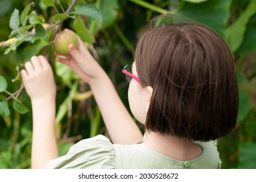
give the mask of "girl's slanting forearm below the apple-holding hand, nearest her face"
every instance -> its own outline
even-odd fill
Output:
[[[142,140],[140,129],[123,105],[108,75],[101,73],[101,78],[92,81],[90,86],[112,142],[134,144]]]

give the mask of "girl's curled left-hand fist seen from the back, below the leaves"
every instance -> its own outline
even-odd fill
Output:
[[[45,57],[34,56],[21,71],[22,81],[31,101],[55,99],[56,84],[52,68]]]

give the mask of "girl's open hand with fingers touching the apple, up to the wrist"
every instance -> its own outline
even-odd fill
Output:
[[[86,49],[84,42],[79,37],[78,42],[78,49],[76,49],[72,44],[69,45],[69,55],[61,55],[56,52],[56,55],[65,57],[65,59],[57,57],[56,61],[66,64],[86,83],[90,83],[92,79],[97,77],[97,74],[102,70],[102,68],[91,56],[89,51]]]

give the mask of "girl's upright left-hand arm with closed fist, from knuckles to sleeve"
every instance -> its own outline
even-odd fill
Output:
[[[21,71],[22,81],[31,98],[33,110],[33,141],[31,168],[44,168],[59,157],[55,135],[56,85],[48,61],[32,57]]]

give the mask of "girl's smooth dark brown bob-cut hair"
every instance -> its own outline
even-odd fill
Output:
[[[204,142],[225,136],[238,114],[232,52],[212,29],[171,19],[153,19],[136,45],[140,84],[153,88],[146,130]]]

